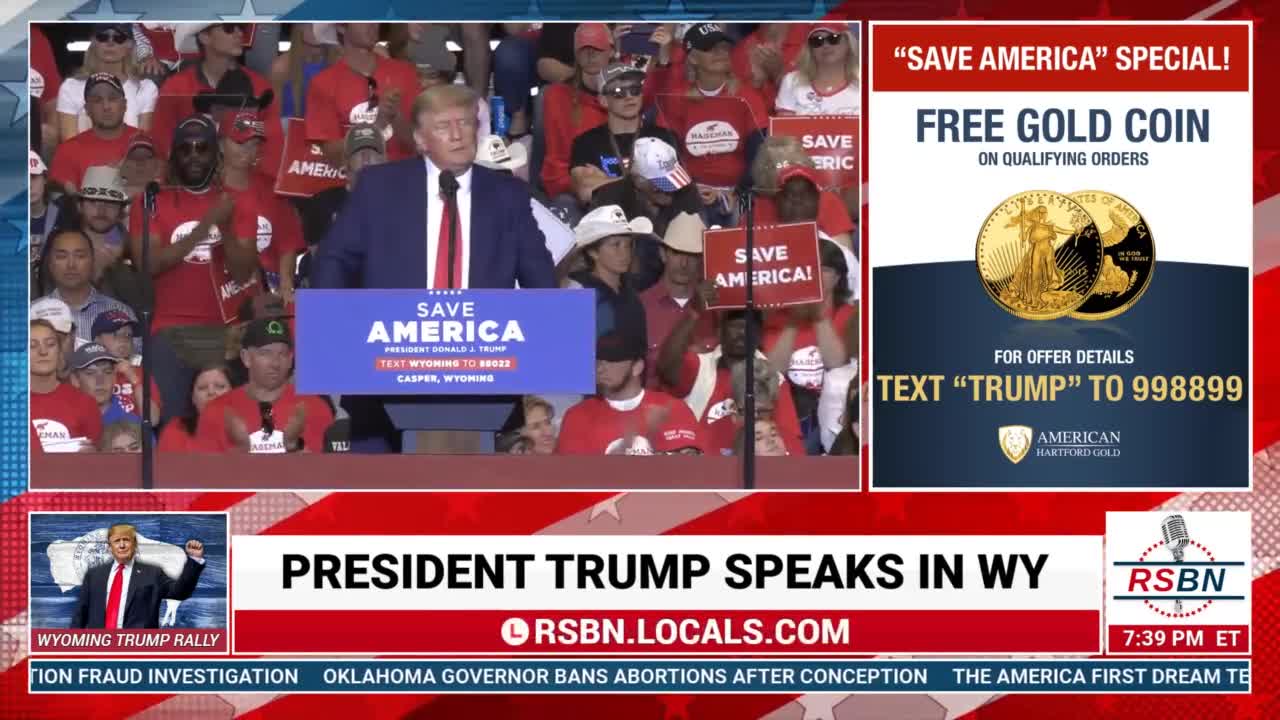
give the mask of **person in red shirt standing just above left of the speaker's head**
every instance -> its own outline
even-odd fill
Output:
[[[378,23],[338,26],[342,58],[317,73],[307,88],[307,141],[319,142],[325,159],[335,168],[347,165],[343,156],[347,127],[372,123],[387,140],[387,159],[412,158],[413,99],[417,68],[374,53]]]

